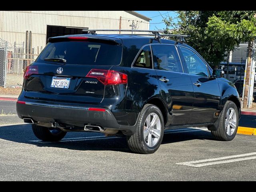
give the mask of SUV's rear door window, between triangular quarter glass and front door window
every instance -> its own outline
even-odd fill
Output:
[[[165,71],[183,72],[180,58],[173,45],[152,45],[154,68]]]

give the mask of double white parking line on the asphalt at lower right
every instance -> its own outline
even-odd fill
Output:
[[[245,154],[240,154],[240,155],[225,156],[225,157],[219,157],[219,158],[188,161],[188,162],[182,162],[182,163],[176,163],[176,164],[187,165],[187,166],[192,166],[192,167],[202,167],[202,166],[209,166],[209,165],[214,165],[214,164],[222,164],[222,163],[230,163],[230,162],[256,159],[256,156],[252,156],[252,155],[256,155],[256,152],[245,153]],[[251,156],[251,157],[238,158],[238,157],[244,157],[244,156]],[[229,160],[224,160],[224,159],[229,159]],[[223,161],[218,161],[218,160],[223,160]],[[212,162],[210,162],[210,161],[212,161]],[[205,162],[208,162],[208,163],[205,163]]]

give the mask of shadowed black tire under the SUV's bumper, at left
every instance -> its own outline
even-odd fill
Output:
[[[48,128],[34,124],[32,125],[32,130],[35,136],[43,141],[59,141],[67,134],[67,132],[58,128]]]

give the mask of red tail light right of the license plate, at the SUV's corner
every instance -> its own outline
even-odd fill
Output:
[[[92,69],[86,77],[96,78],[104,85],[126,84],[127,75],[113,70]]]

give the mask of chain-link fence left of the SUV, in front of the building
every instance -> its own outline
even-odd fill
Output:
[[[26,50],[24,43],[10,44],[0,39],[0,86],[22,87],[24,70],[37,58],[35,49]]]

